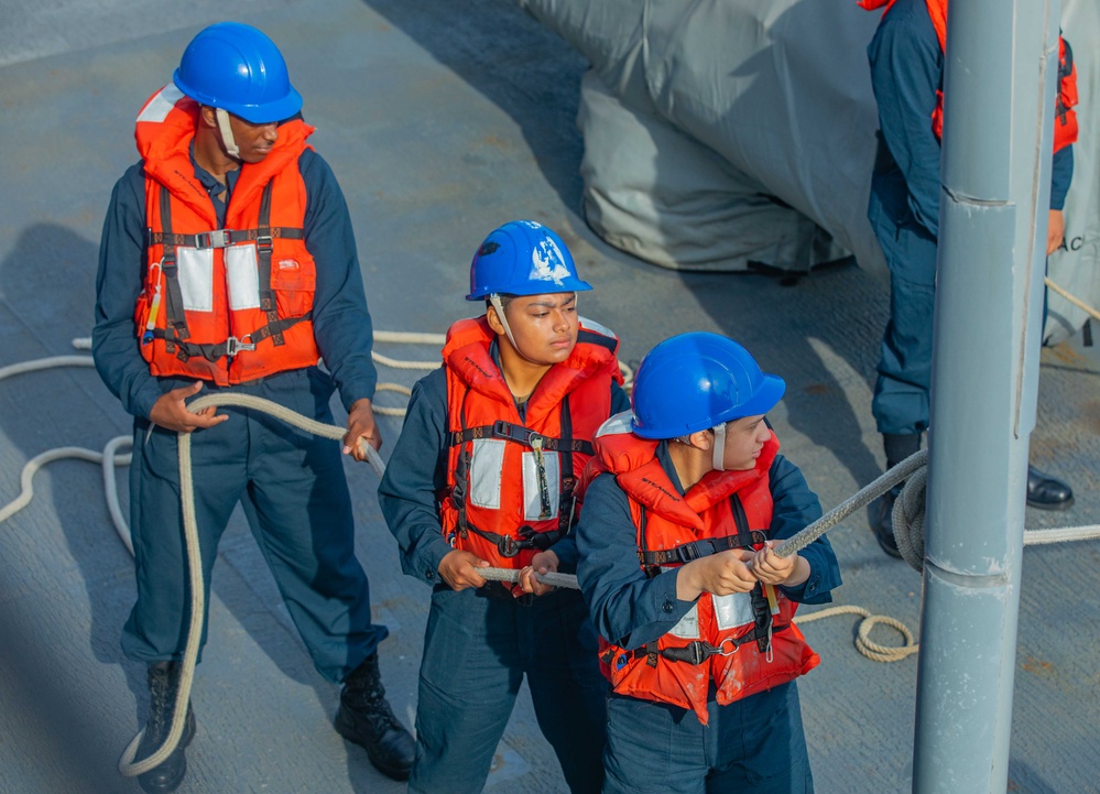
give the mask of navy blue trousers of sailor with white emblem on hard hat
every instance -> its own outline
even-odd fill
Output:
[[[424,637],[409,791],[481,791],[525,673],[538,727],[569,788],[599,792],[607,681],[597,654],[596,629],[577,590],[554,590],[524,606],[483,588],[437,586]]]

